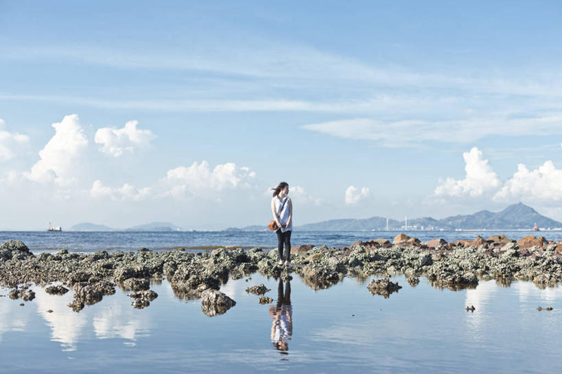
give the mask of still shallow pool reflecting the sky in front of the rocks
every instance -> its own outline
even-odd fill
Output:
[[[480,281],[451,291],[399,276],[401,290],[384,299],[366,289],[371,279],[314,291],[296,274],[286,283],[255,273],[222,285],[237,304],[213,317],[167,281],[151,284],[159,297],[145,309],[117,288],[79,313],[67,306],[73,292],[32,285],[36,299],[25,302],[0,288],[0,372],[562,372],[562,287]],[[272,303],[246,293],[260,283]]]

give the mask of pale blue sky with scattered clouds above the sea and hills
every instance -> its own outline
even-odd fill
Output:
[[[562,220],[558,1],[2,1],[0,230]]]

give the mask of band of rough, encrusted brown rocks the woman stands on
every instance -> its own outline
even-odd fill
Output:
[[[89,255],[62,249],[34,255],[23,242],[10,241],[0,245],[0,285],[12,288],[12,299],[27,301],[34,297],[32,285],[49,286],[46,291],[54,295],[71,289],[74,301],[69,307],[79,312],[114,294],[115,287],[131,292],[133,307],[147,307],[158,296],[150,290],[151,282],[167,279],[176,296],[202,298],[202,311],[215,316],[235,305],[220,292],[220,285],[256,271],[283,279],[294,272],[315,290],[329,288],[344,277],[375,276],[377,280],[368,290],[385,297],[401,288],[388,280],[395,274],[405,275],[412,286],[419,283],[419,277],[425,277],[434,287],[452,290],[474,288],[479,280],[489,279],[502,285],[513,280],[532,281],[539,288],[562,281],[562,242],[532,235],[518,242],[504,235],[420,242],[400,234],[393,242],[374,239],[344,248],[303,245],[292,248],[294,268],[278,266],[277,257],[277,249],[261,248],[218,248],[197,253],[183,249],[156,253],[141,248],[137,252],[101,250]],[[248,292],[263,295],[264,288],[248,288]]]

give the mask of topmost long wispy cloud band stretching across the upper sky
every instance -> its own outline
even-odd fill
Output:
[[[434,71],[411,71],[396,65],[340,56],[307,45],[257,41],[252,47],[236,45],[217,49],[169,51],[151,48],[149,53],[113,49],[97,45],[50,45],[12,47],[3,54],[5,60],[43,60],[75,65],[97,65],[116,69],[187,71],[223,78],[247,77],[259,80],[283,80],[299,86],[303,82],[347,82],[352,86],[412,88],[422,90],[454,89],[468,93],[501,93],[523,96],[560,96],[562,78],[553,71],[530,77],[498,76],[497,71],[480,76],[447,75]],[[298,80],[298,81],[297,81]]]

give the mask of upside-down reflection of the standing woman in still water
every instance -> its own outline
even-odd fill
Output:
[[[283,280],[279,278],[279,288],[277,288],[277,306],[270,306],[269,313],[272,315],[271,341],[273,347],[281,353],[287,355],[289,350],[289,340],[293,334],[293,309],[291,307],[291,283],[285,284],[283,293]]]

